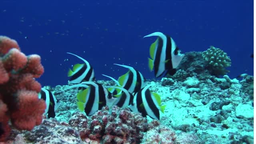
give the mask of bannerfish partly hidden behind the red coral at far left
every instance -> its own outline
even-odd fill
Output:
[[[41,91],[38,94],[38,98],[43,99],[46,103],[46,109],[44,111],[44,114],[46,115],[46,117],[54,118],[55,111],[57,110],[60,104],[58,99],[54,96],[54,94],[50,90],[46,88],[41,88]]]

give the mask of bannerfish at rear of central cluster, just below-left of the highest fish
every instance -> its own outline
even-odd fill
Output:
[[[116,84],[126,90],[130,93],[136,93],[140,89],[144,88],[146,85],[146,79],[142,76],[142,74],[138,71],[132,68],[131,66],[121,65],[121,64],[115,64],[118,66],[122,66],[124,68],[128,68],[128,72],[118,78],[118,80],[115,80],[114,78],[110,76],[106,76],[103,74],[103,76],[106,76],[108,78],[111,78]]]

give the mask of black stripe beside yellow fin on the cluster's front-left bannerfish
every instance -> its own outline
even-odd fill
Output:
[[[90,112],[92,110],[92,106],[95,102],[96,90],[95,90],[95,87],[92,86],[91,84],[88,84],[88,86],[90,86],[90,94],[89,94],[88,101],[86,102],[84,112],[86,113],[87,116],[90,116],[89,114],[90,114]]]

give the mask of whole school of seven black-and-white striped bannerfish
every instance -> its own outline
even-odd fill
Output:
[[[150,36],[158,37],[150,46],[150,58],[148,58],[150,70],[152,71],[154,68],[156,78],[166,76],[166,74],[175,74],[176,67],[184,54],[181,54],[170,36],[161,32],[154,32],[144,36],[144,38]],[[102,74],[116,83],[116,86],[103,86],[95,81],[94,70],[90,63],[76,54],[72,55],[83,60],[84,63],[75,64],[72,70],[69,69],[69,83],[73,85],[59,92],[79,88],[76,104],[81,112],[84,111],[87,116],[92,116],[103,106],[108,106],[110,109],[112,106],[118,106],[129,108],[132,112],[140,112],[143,117],[149,116],[155,120],[160,119],[159,111],[164,112],[166,105],[161,105],[160,96],[149,90],[150,85],[146,85],[146,79],[138,70],[131,66],[114,64],[128,68],[128,72],[120,76],[118,80]],[[47,107],[44,114],[47,118],[54,118],[55,111],[59,106],[54,94],[50,90],[42,88],[38,96],[46,101]]]

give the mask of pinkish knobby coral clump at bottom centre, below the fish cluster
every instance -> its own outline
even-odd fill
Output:
[[[104,144],[139,143],[148,126],[146,118],[140,114],[117,106],[113,106],[111,114],[108,107],[104,107],[90,120],[82,113],[74,113],[69,124],[80,132],[83,140]]]

